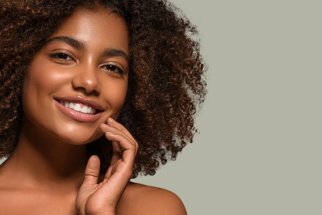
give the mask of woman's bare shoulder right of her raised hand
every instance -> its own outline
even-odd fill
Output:
[[[117,214],[186,215],[181,199],[173,192],[130,183],[118,204]]]

